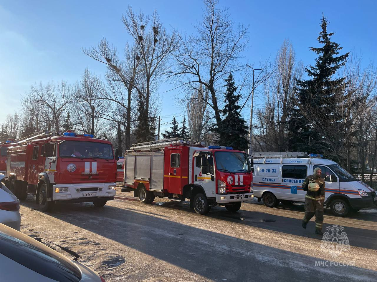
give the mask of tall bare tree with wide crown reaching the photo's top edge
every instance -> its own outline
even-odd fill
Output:
[[[219,8],[218,0],[204,0],[204,15],[194,27],[195,35],[179,36],[180,48],[175,53],[175,64],[167,73],[178,87],[191,97],[192,89],[198,83],[208,89],[210,97],[203,100],[210,106],[220,126],[221,109],[218,98],[219,88],[230,72],[245,68],[239,59],[248,43],[248,27],[242,24],[234,27],[225,8]]]

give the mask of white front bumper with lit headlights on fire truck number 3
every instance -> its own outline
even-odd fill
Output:
[[[52,200],[78,200],[80,202],[92,202],[93,199],[103,197],[114,198],[115,190],[109,190],[109,186],[115,186],[116,183],[75,183],[75,184],[56,184],[52,186]],[[56,188],[68,188],[67,192],[56,193]],[[95,193],[95,194],[93,194]],[[87,200],[86,200],[87,199]],[[108,199],[110,200],[110,199]],[[112,199],[111,199],[112,200]]]

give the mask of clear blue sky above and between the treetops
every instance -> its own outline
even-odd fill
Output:
[[[33,83],[52,79],[74,83],[86,67],[103,74],[104,65],[86,57],[81,47],[106,37],[122,50],[130,40],[121,23],[128,5],[146,14],[156,8],[166,27],[187,32],[192,32],[192,24],[202,16],[199,0],[0,1],[0,123],[19,110],[21,95]],[[333,40],[344,52],[355,50],[364,64],[377,56],[375,1],[221,0],[220,5],[229,8],[236,23],[250,25],[250,48],[245,53],[249,62],[273,58],[288,38],[297,59],[304,65],[313,64],[315,56],[309,47],[317,46],[322,12],[330,22],[328,30],[336,32]],[[164,83],[159,89],[163,121],[182,112],[175,105],[176,90],[166,92],[172,88]]]

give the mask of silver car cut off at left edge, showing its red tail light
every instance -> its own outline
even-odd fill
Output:
[[[0,173],[0,223],[20,231],[20,201],[1,182],[3,178],[4,174]]]

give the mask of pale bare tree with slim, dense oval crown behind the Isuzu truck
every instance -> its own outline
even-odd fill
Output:
[[[207,104],[204,100],[208,99],[208,92],[204,91],[203,86],[199,85],[187,102],[187,115],[189,121],[190,136],[193,140],[203,141],[205,130],[208,129],[209,115]]]

